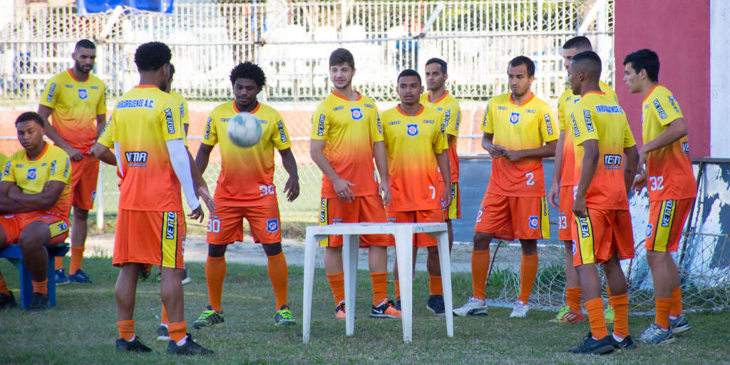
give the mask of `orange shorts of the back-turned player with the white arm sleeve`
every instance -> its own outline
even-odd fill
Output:
[[[120,209],[112,264],[153,264],[183,269],[185,214]]]

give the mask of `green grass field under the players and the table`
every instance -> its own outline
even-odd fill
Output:
[[[68,261],[68,258],[66,258]],[[68,265],[68,262],[65,263]],[[58,306],[42,313],[18,309],[0,312],[0,364],[721,364],[730,363],[727,312],[690,314],[693,329],[669,345],[640,346],[609,356],[576,356],[568,347],[588,331],[588,323],[554,325],[554,314],[533,310],[528,318],[507,318],[509,310],[489,309],[486,318],[455,318],[454,337],[446,337],[445,321],[426,310],[426,273],[415,280],[413,342],[402,342],[399,320],[368,317],[371,285],[367,272],[358,275],[356,332],[345,337],[345,322],[334,319],[334,307],[323,269],[315,274],[310,343],[301,343],[301,267],[289,271],[289,303],[297,326],[274,327],[274,294],[266,268],[228,264],[223,288],[226,322],[201,330],[193,338],[215,350],[201,358],[172,358],[166,342],[155,341],[160,312],[159,285],[137,286],[137,335],[153,353],[117,354],[114,283],[118,269],[110,258],[87,258],[84,269],[95,283],[58,288]],[[185,320],[190,325],[207,304],[204,264],[189,264],[193,282],[185,285]],[[18,293],[18,272],[0,262],[9,288]],[[156,270],[153,270],[156,272]],[[455,304],[471,291],[467,274],[453,275]],[[389,285],[392,296],[392,285]],[[650,318],[631,318],[637,337]]]

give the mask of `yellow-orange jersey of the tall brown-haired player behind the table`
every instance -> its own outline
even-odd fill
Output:
[[[326,141],[324,155],[339,177],[355,184],[355,196],[377,194],[372,144],[383,140],[375,101],[358,93],[352,101],[332,91],[312,115],[310,139]],[[322,174],[322,198],[337,198],[332,182]]]

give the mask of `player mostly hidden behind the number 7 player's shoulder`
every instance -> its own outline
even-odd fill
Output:
[[[428,93],[420,96],[420,104],[426,107],[435,107],[439,112],[444,113],[446,123],[446,136],[448,139],[447,154],[449,155],[449,165],[451,177],[450,184],[445,186],[451,189],[451,205],[444,210],[444,221],[449,233],[449,251],[454,241],[453,228],[451,228],[451,220],[461,219],[461,191],[458,186],[458,153],[456,144],[458,142],[458,126],[461,123],[461,108],[458,101],[446,91],[445,83],[449,79],[446,61],[441,58],[431,58],[426,61],[426,87]],[[440,179],[440,177],[439,177]],[[437,256],[435,256],[437,258]],[[429,255],[429,259],[431,255]],[[431,265],[439,265],[438,262]],[[439,293],[441,295],[441,293]]]

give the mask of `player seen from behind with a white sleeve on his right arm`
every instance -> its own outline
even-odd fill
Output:
[[[144,264],[161,266],[160,291],[169,312],[167,353],[212,353],[196,344],[183,318],[183,241],[185,216],[180,188],[192,219],[202,220],[198,200],[215,211],[207,186],[194,184],[191,159],[185,148],[179,104],[166,89],[172,54],[161,42],[140,45],[134,54],[139,85],[117,102],[107,129],[112,133],[117,166],[122,176],[113,264],[120,266],[116,299],[120,338],[116,350],[150,352],[134,334],[134,297],[137,277]],[[107,147],[96,145],[95,154]]]

